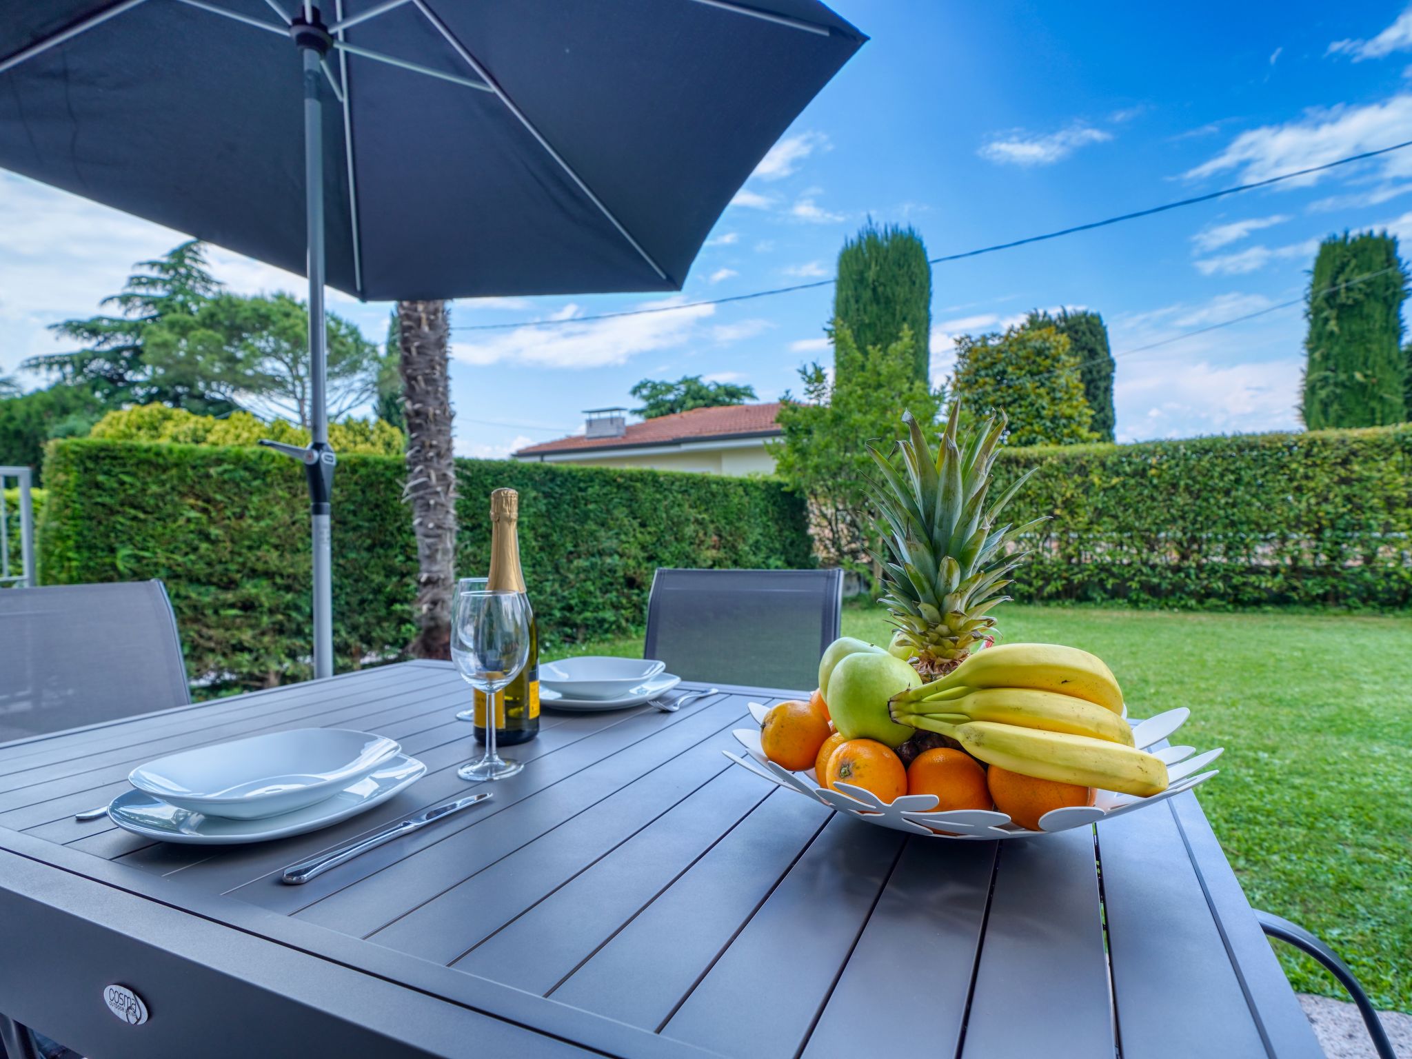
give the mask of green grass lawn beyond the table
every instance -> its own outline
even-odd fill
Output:
[[[1007,641],[1072,644],[1138,714],[1190,706],[1183,740],[1224,746],[1206,808],[1252,905],[1308,926],[1380,1007],[1412,1012],[1412,618],[1187,614],[1005,604]],[[885,616],[843,631],[885,642]],[[641,638],[575,654],[640,655]],[[1343,995],[1279,946],[1305,993]]]

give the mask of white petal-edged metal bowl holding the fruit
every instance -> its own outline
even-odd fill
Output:
[[[750,703],[750,714],[755,724],[765,720],[767,706],[758,702]],[[1147,750],[1161,743],[1176,731],[1192,712],[1185,706],[1155,717],[1148,717],[1132,726],[1132,741],[1139,750]],[[1053,809],[1039,818],[1041,830],[1032,832],[1011,823],[1010,816],[991,809],[956,809],[952,812],[931,812],[935,809],[936,795],[902,795],[891,805],[880,801],[871,791],[851,784],[839,784],[839,791],[822,791],[815,782],[813,771],[791,772],[768,760],[760,748],[760,729],[736,729],[731,733],[746,748],[747,755],[723,751],[726,757],[743,768],[748,768],[758,777],[779,786],[798,791],[806,798],[813,798],[839,812],[850,813],[864,823],[878,827],[891,827],[912,834],[923,834],[931,839],[1029,839],[1041,834],[1055,834],[1070,827],[1087,827],[1090,823],[1137,812],[1148,805],[1166,801],[1183,791],[1190,791],[1199,784],[1204,784],[1216,770],[1203,772],[1200,770],[1211,764],[1221,755],[1221,747],[1207,750],[1202,754],[1195,747],[1163,747],[1151,751],[1166,762],[1166,774],[1171,785],[1159,795],[1138,798],[1137,795],[1117,794],[1114,791],[1099,791],[1093,805],[1070,806]],[[840,791],[843,794],[840,794]],[[938,827],[943,827],[947,834],[939,834]]]

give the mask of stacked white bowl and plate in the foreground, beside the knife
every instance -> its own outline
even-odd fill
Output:
[[[398,743],[367,731],[271,731],[148,761],[107,812],[164,842],[263,842],[371,809],[425,771]]]

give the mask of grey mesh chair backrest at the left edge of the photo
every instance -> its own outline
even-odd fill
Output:
[[[0,743],[189,702],[160,580],[0,589]]]

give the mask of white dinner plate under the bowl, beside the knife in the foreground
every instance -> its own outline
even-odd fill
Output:
[[[398,791],[421,779],[426,765],[407,754],[398,754],[374,772],[350,784],[330,798],[306,805],[294,812],[265,816],[258,820],[232,820],[225,816],[179,809],[144,791],[128,791],[113,799],[107,815],[113,823],[134,834],[161,842],[229,846],[240,842],[268,842],[289,834],[304,834],[328,827],[349,816],[385,802]]]

